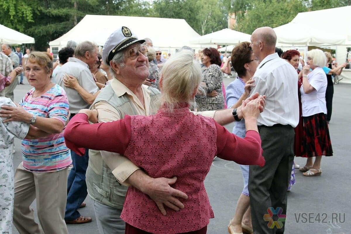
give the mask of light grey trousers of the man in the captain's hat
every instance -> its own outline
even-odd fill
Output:
[[[93,200],[99,234],[124,234],[126,223],[120,218],[122,210]]]

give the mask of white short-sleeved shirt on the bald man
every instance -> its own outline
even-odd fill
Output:
[[[257,125],[275,124],[296,127],[299,122],[297,92],[298,75],[286,60],[277,53],[264,58],[253,75],[255,87],[250,95],[258,92],[266,95],[264,111],[258,116]]]

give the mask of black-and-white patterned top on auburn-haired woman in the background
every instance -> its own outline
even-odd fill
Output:
[[[216,111],[224,108],[224,96],[222,92],[223,72],[216,64],[211,64],[203,72],[202,82],[206,84],[206,93],[213,90],[218,92],[215,97],[196,95],[197,111]]]

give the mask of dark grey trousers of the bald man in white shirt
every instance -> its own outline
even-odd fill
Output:
[[[249,169],[249,193],[252,227],[256,234],[284,233],[283,227],[270,228],[263,219],[267,209],[277,207],[286,214],[287,188],[294,159],[294,129],[290,125],[258,128],[262,140],[263,156],[266,164],[263,167],[251,165]],[[273,215],[273,221],[277,220]]]

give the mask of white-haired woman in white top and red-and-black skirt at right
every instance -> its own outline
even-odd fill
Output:
[[[320,49],[307,52],[307,65],[302,69],[301,103],[304,120],[302,157],[307,157],[306,165],[300,167],[304,176],[322,174],[322,155],[332,156],[329,129],[325,114],[325,91],[327,78],[323,67],[327,60]],[[312,71],[310,71],[312,69]],[[316,157],[314,163],[312,157]]]

